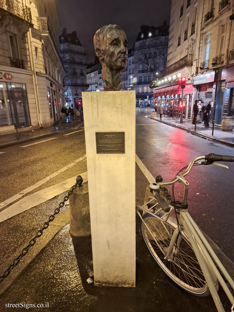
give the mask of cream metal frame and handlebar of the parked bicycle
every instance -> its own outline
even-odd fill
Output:
[[[187,204],[189,183],[188,183],[188,181],[185,180],[184,176],[189,173],[193,164],[197,160],[204,159],[204,158],[205,158],[205,156],[200,156],[200,157],[193,159],[193,161],[188,165],[187,170],[183,174],[178,174],[172,181],[160,182],[160,183],[158,183],[158,185],[159,186],[171,185],[171,184],[176,183],[177,181],[183,183],[183,185],[184,185],[183,204]],[[224,167],[226,167],[226,166],[224,166]],[[155,199],[155,198],[149,197],[149,202],[152,199]],[[147,205],[148,203],[144,204],[144,206]],[[170,207],[171,207],[170,211],[168,213],[166,213],[163,217],[159,217],[159,216],[155,215],[154,213],[149,212],[147,209],[145,209],[141,206],[137,206],[136,208],[138,208],[144,212],[150,213],[153,217],[155,217],[156,219],[161,221],[163,224],[163,222],[168,220],[168,218],[170,217],[171,211],[173,210],[173,207],[172,206],[170,206]],[[137,214],[139,215],[141,220],[144,222],[144,220],[142,219],[138,210],[137,210]],[[170,218],[172,218],[172,217],[170,217]],[[205,239],[204,235],[202,234],[202,232],[198,228],[197,224],[194,222],[192,217],[189,215],[188,208],[187,209],[180,209],[179,224],[182,225],[183,227],[181,227],[181,226],[176,227],[176,229],[172,235],[171,242],[170,242],[170,245],[168,247],[166,256],[169,257],[171,252],[173,252],[173,247],[174,247],[176,240],[178,238],[178,233],[184,232],[184,234],[188,237],[188,240],[189,240],[189,242],[193,248],[193,251],[197,257],[197,261],[199,262],[199,265],[202,269],[202,273],[206,279],[208,288],[210,290],[210,293],[211,293],[212,298],[214,300],[214,303],[216,305],[217,311],[218,312],[225,312],[223,305],[222,305],[222,302],[221,302],[219,295],[217,293],[217,289],[218,289],[217,281],[219,281],[220,285],[222,286],[223,290],[225,291],[228,299],[231,302],[232,309],[233,309],[234,297],[233,297],[231,291],[229,290],[229,288],[227,287],[225,280],[223,279],[223,277],[219,273],[217,267],[222,272],[222,275],[226,278],[227,282],[230,284],[230,286],[232,287],[233,290],[234,290],[234,281],[232,280],[231,276],[227,273],[226,269],[224,268],[224,266],[222,265],[222,263],[220,262],[220,260],[218,259],[218,257],[214,253],[214,251],[212,250],[211,246],[209,245],[209,243]],[[147,226],[147,224],[145,222],[144,222],[144,225],[147,227],[147,229],[151,233],[149,227]],[[164,226],[164,228],[166,229],[165,226]],[[158,247],[162,251],[161,247],[159,246],[158,242],[156,241],[156,239],[154,238],[153,235],[152,235],[152,238],[154,239],[155,243],[158,245]],[[178,245],[179,245],[179,242],[180,241],[178,239],[178,241],[177,241]]]

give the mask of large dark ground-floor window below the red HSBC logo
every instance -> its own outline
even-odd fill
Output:
[[[0,125],[30,126],[26,86],[22,83],[0,83]]]

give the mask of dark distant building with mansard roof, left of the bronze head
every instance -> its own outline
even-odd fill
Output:
[[[65,69],[65,105],[76,107],[82,101],[81,92],[87,91],[86,54],[76,31],[67,33],[63,29],[59,36],[61,61]]]

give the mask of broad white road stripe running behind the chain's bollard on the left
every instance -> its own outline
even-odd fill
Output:
[[[80,173],[80,175],[83,178],[83,183],[88,181],[87,171],[84,173]],[[25,210],[35,207],[42,202],[46,202],[47,200],[68,191],[72,187],[72,185],[76,183],[76,177],[77,175],[61,183],[52,185],[49,188],[44,188],[41,191],[38,191],[20,199],[18,202],[14,203],[13,205],[7,207],[5,210],[0,212],[0,222],[3,222],[4,220],[16,216],[17,214]]]

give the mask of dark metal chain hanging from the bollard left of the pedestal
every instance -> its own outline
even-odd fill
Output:
[[[17,258],[15,258],[12,261],[12,264],[2,273],[2,275],[0,276],[0,283],[2,283],[2,281],[5,280],[5,278],[11,273],[11,271],[14,269],[14,267],[17,266],[17,264],[20,262],[22,257],[27,255],[29,248],[32,247],[36,243],[36,240],[37,240],[38,237],[41,237],[41,235],[43,234],[43,231],[45,229],[47,229],[47,227],[49,226],[50,222],[53,221],[55,216],[60,212],[60,209],[62,207],[64,207],[65,202],[68,201],[69,196],[71,196],[73,191],[77,188],[77,185],[80,186],[82,184],[82,182],[83,182],[82,177],[80,175],[77,176],[76,183],[72,186],[71,190],[69,190],[67,196],[65,196],[63,198],[63,201],[60,202],[59,207],[56,208],[54,213],[49,216],[48,221],[43,224],[42,228],[39,231],[37,231],[37,234],[29,241],[28,245],[22,249],[22,251],[19,254],[19,256],[17,256]]]

